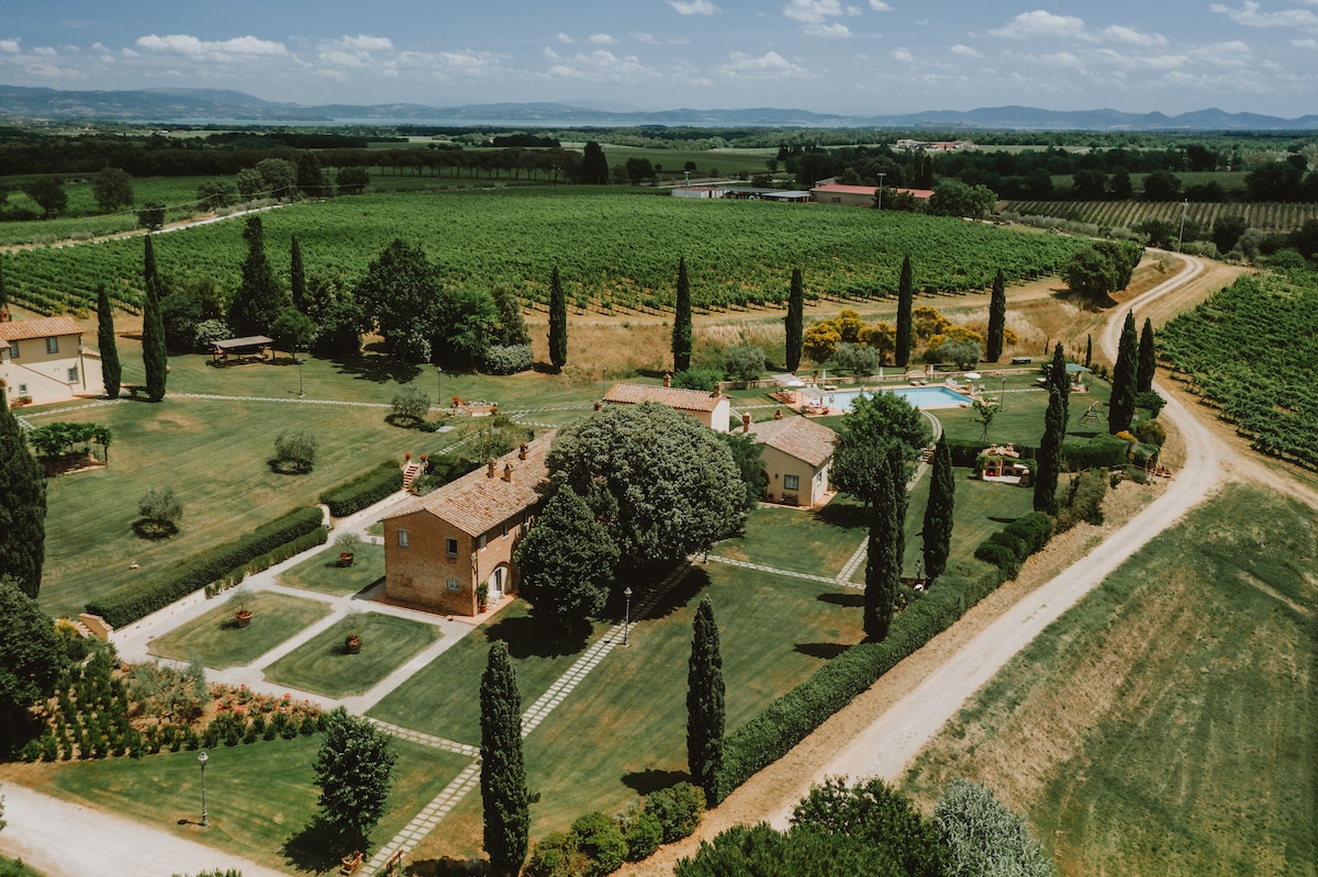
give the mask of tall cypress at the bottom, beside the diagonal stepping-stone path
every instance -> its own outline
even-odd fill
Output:
[[[514,877],[526,861],[531,814],[522,761],[522,698],[502,640],[490,645],[481,677],[481,802],[490,869]]]

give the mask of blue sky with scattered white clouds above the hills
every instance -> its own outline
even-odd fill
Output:
[[[302,105],[1318,113],[1318,0],[5,0],[0,84]]]

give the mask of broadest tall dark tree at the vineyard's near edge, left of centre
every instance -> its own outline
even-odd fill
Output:
[[[407,362],[431,358],[439,323],[440,291],[419,246],[394,238],[357,282],[357,303],[376,323],[385,349]]]

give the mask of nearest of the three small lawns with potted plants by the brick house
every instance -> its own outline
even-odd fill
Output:
[[[331,698],[361,694],[439,636],[431,624],[362,612],[360,654],[343,651],[344,633],[333,627],[265,668],[265,678]]]

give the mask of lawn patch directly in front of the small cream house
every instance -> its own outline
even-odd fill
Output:
[[[718,543],[710,553],[796,573],[837,575],[867,533],[859,503],[838,495],[818,512],[754,508],[745,535]]]

